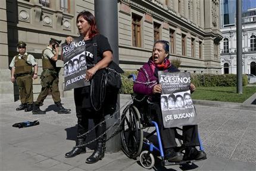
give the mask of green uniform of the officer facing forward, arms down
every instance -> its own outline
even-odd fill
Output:
[[[24,53],[16,55],[10,67],[15,68],[14,77],[18,85],[21,104],[33,104],[32,66],[37,65],[34,56]]]

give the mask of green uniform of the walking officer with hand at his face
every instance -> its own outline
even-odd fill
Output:
[[[36,104],[42,104],[43,100],[48,96],[49,90],[51,90],[52,99],[55,103],[61,101],[60,99],[60,91],[58,88],[59,78],[58,72],[56,68],[56,62],[52,61],[52,56],[55,55],[55,50],[51,47],[47,47],[42,52],[42,65],[43,65],[43,72],[41,74],[41,85],[42,89],[36,100]]]

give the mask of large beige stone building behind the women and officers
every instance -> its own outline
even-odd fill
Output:
[[[41,53],[50,37],[65,40],[78,36],[76,15],[88,10],[94,14],[94,1],[4,0],[1,1],[1,94],[18,98],[10,81],[11,58],[17,54],[18,40],[27,43],[42,66]],[[118,42],[121,68],[139,69],[151,56],[156,40],[170,43],[170,59],[180,60],[182,71],[220,74],[218,0],[120,0],[118,1]],[[63,64],[59,64],[61,66]],[[39,68],[39,73],[42,68]],[[60,67],[60,82],[63,83]],[[35,97],[40,79],[33,83]],[[70,96],[63,91],[62,96]],[[5,96],[6,97],[6,96]],[[3,98],[1,98],[3,99]]]

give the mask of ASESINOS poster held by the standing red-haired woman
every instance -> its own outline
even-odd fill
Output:
[[[90,85],[85,81],[87,69],[85,48],[83,36],[74,39],[70,45],[67,43],[61,45],[64,61],[64,90]]]

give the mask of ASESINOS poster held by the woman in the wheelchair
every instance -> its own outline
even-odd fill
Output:
[[[158,71],[158,75],[162,85],[161,110],[164,128],[195,125],[196,112],[189,90],[190,73]]]

